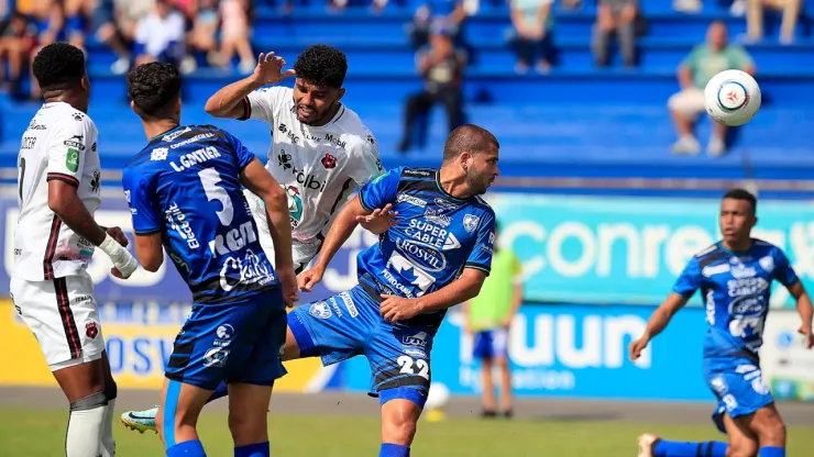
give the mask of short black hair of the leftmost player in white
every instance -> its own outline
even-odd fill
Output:
[[[31,70],[42,90],[68,89],[85,77],[85,53],[68,43],[52,43],[36,53]]]

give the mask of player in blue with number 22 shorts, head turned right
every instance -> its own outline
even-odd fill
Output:
[[[319,356],[326,366],[367,358],[370,394],[382,404],[381,457],[409,456],[436,332],[447,309],[477,296],[490,272],[495,214],[479,196],[498,174],[498,148],[492,133],[466,124],[447,140],[440,169],[399,167],[371,181],[298,277],[300,289],[311,290],[359,221],[381,233],[358,256],[359,286],[288,314],[285,353]]]

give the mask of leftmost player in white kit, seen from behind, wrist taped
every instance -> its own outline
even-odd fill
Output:
[[[11,298],[70,402],[67,457],[113,456],[117,387],[86,268],[96,246],[110,256],[120,278],[138,264],[119,227],[94,221],[100,170],[96,125],[87,115],[85,55],[54,43],[40,51],[32,67],[45,103],[20,145]]]

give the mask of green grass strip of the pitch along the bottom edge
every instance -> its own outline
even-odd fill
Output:
[[[0,409],[0,443],[4,457],[64,455],[67,413],[57,410]],[[119,457],[164,455],[157,435],[139,434],[114,424]],[[319,457],[375,457],[378,454],[376,417],[271,416],[272,455]],[[650,431],[685,441],[723,439],[712,423],[705,425],[635,424],[627,422],[543,422],[503,420],[447,420],[419,424],[413,455],[425,456],[557,456],[634,457],[636,436]],[[199,432],[208,455],[231,456],[226,415],[205,413]],[[811,428],[791,427],[789,455],[811,455]]]

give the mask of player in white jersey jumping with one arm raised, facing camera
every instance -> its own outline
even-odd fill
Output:
[[[254,74],[215,93],[206,110],[217,118],[255,119],[271,125],[266,169],[286,189],[297,274],[317,255],[331,221],[353,193],[384,172],[378,144],[355,112],[341,103],[348,71],[344,54],[314,45],[294,69],[260,55]],[[294,89],[270,87],[295,76]],[[262,200],[249,192],[261,242],[273,249]],[[270,254],[270,258],[274,258]]]

